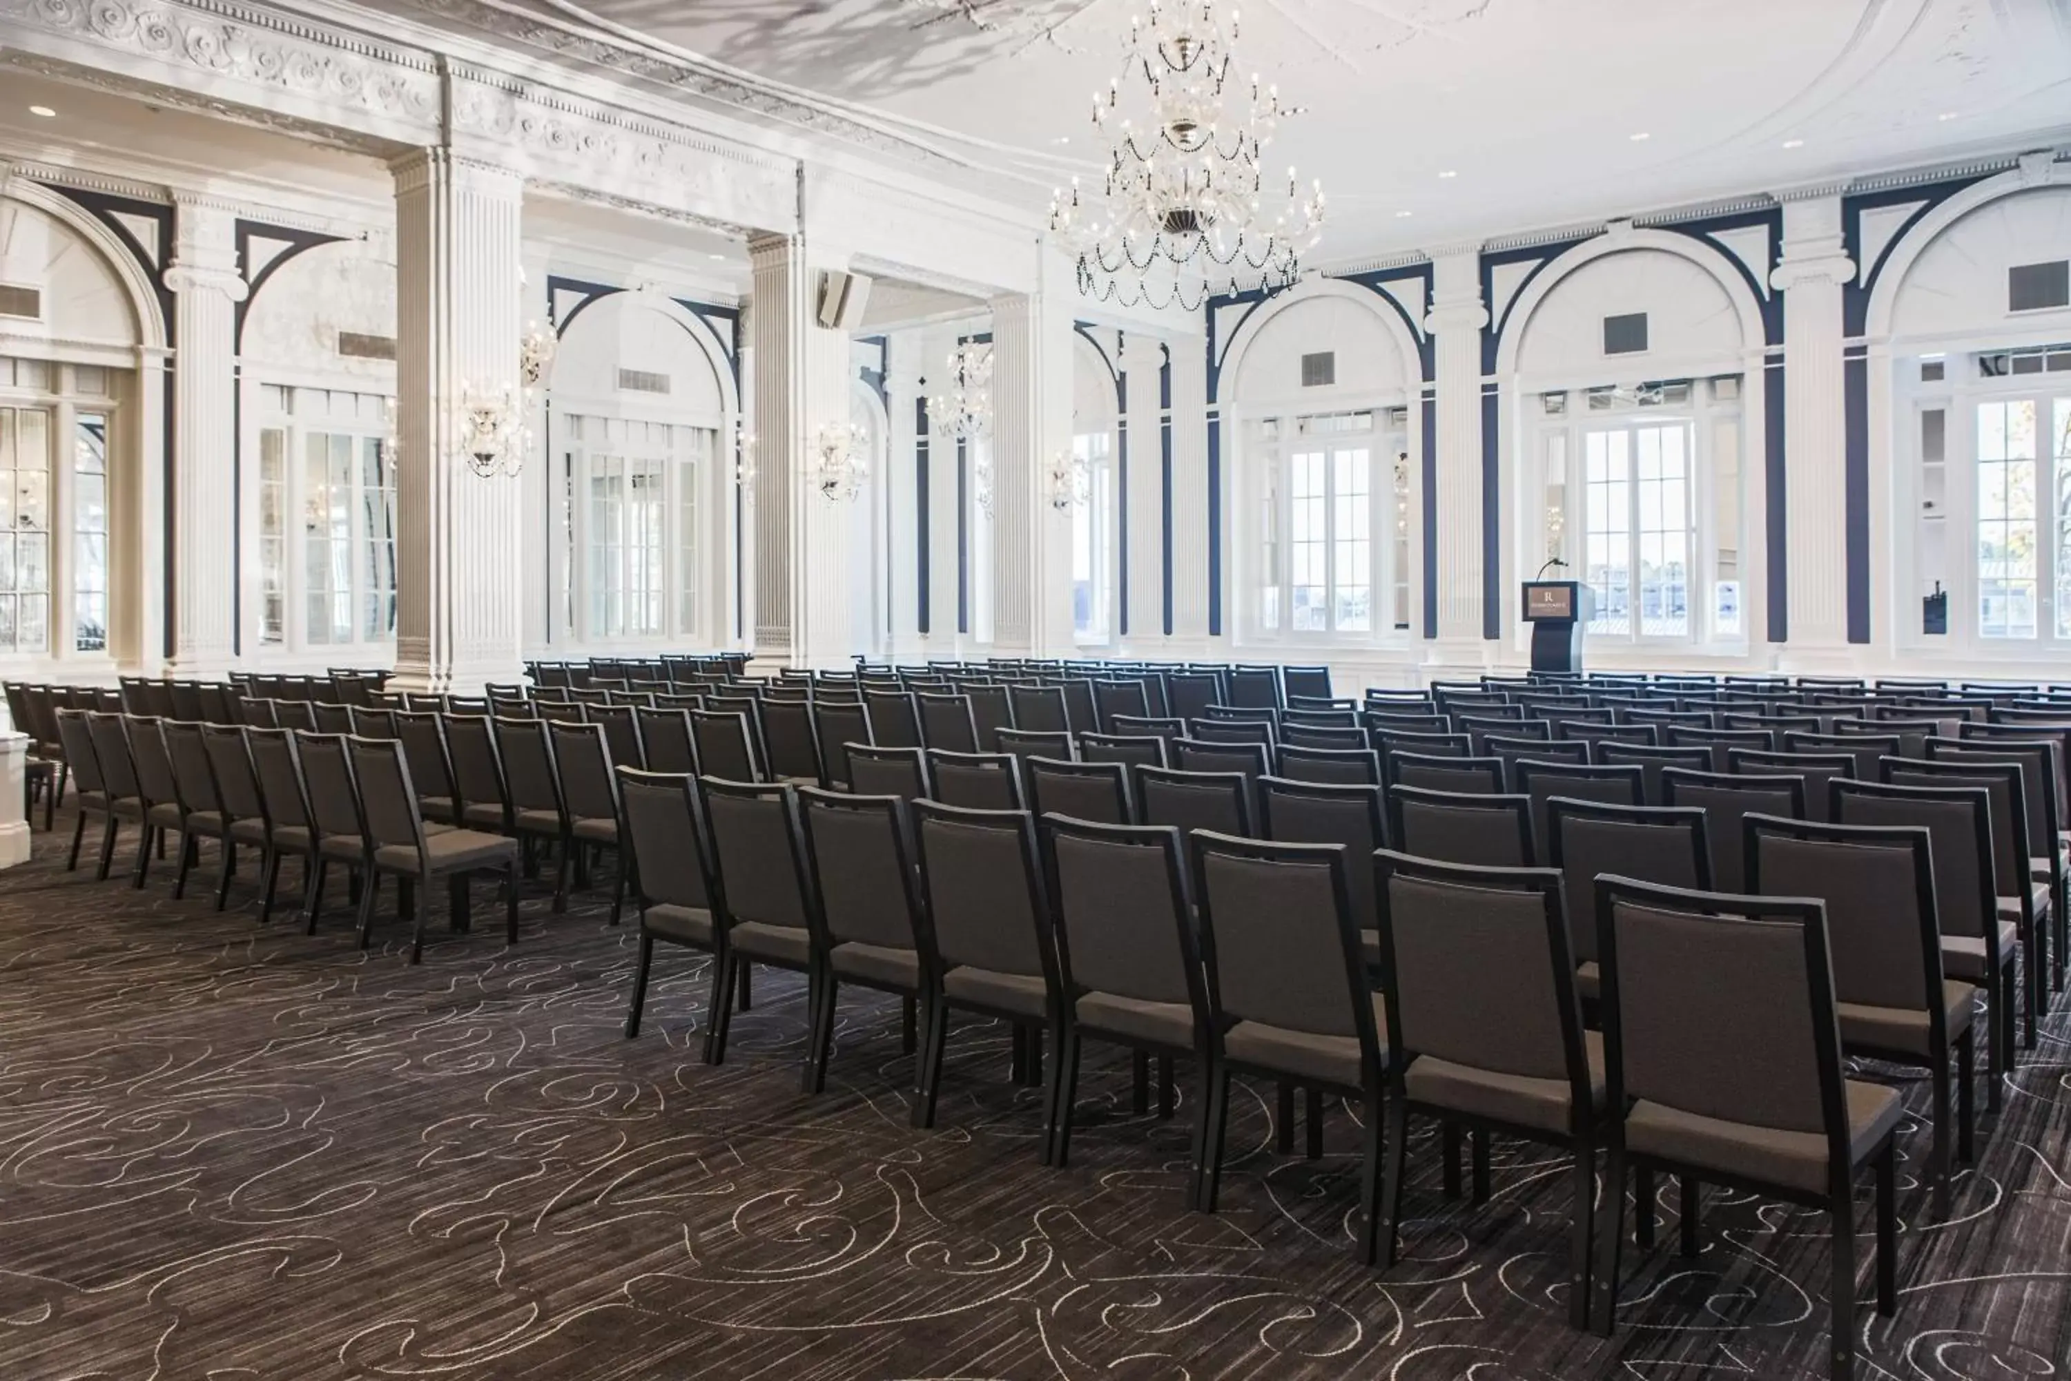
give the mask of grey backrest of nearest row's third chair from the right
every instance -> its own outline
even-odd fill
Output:
[[[1344,845],[1282,845],[1203,830],[1189,839],[1212,1027],[1259,1023],[1354,1037],[1361,1083],[1379,1077]]]

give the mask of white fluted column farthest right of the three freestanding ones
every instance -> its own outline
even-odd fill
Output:
[[[1036,292],[992,300],[992,646],[1007,654],[1073,646],[1071,524],[1050,501],[1071,449],[1071,284],[1044,253]]]

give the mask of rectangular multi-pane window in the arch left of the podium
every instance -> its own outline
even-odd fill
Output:
[[[1408,464],[1394,439],[1375,435],[1377,422],[1371,410],[1257,422],[1251,631],[1330,638],[1408,627]]]

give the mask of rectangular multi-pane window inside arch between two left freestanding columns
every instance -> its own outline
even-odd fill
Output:
[[[717,453],[710,427],[570,416],[567,605],[580,638],[698,631],[698,484]]]

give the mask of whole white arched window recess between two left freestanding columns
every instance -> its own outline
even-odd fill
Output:
[[[679,304],[623,292],[561,335],[549,393],[557,640],[723,638],[710,586],[729,410],[700,331]]]

